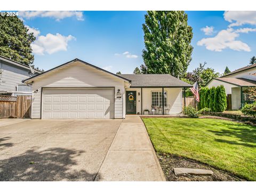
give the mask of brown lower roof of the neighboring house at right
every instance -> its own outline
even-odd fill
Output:
[[[235,77],[219,77],[213,78],[222,82],[230,83],[236,86],[256,86],[256,81],[246,78],[235,78]]]

